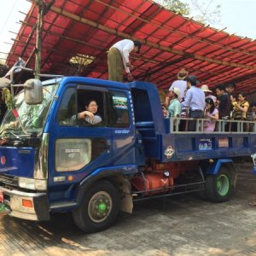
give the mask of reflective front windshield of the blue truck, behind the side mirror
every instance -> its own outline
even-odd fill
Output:
[[[24,101],[24,90],[15,96],[15,109],[9,109],[3,118],[0,137],[19,137],[23,135],[41,134],[49,106],[55,97],[59,84],[44,86],[43,102],[27,105]]]

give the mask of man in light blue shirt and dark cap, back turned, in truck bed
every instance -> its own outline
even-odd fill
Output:
[[[182,107],[189,107],[189,118],[203,118],[206,102],[204,92],[196,87],[200,83],[194,75],[189,75],[185,80],[189,90],[187,90],[185,99],[182,102]],[[196,122],[189,121],[188,130],[195,131],[195,129]]]

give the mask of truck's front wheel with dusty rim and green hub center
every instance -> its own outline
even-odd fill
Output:
[[[119,213],[120,199],[117,189],[108,181],[100,181],[84,192],[73,220],[80,230],[93,233],[107,229]]]

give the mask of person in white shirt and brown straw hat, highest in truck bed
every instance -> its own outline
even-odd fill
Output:
[[[187,90],[187,82],[184,81],[184,79],[186,79],[187,75],[188,75],[188,71],[185,68],[182,68],[177,73],[177,80],[175,80],[169,88],[169,90],[172,90],[174,87],[176,87],[180,90],[180,94],[178,96],[178,100],[180,102],[183,101],[185,91]],[[166,107],[168,107],[169,102],[170,102],[170,99],[168,98],[168,96],[166,96]]]

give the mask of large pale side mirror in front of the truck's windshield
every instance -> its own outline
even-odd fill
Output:
[[[43,102],[43,84],[38,79],[29,79],[24,84],[24,99],[27,105]]]

